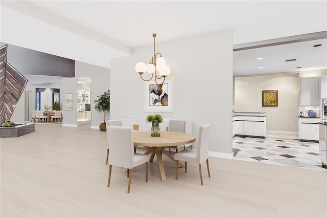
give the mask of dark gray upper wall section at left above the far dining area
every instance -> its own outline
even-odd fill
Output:
[[[0,42],[0,46],[6,45]],[[8,45],[7,61],[22,75],[75,77],[75,60]]]

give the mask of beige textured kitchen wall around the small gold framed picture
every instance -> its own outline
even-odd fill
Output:
[[[299,74],[235,77],[235,112],[266,112],[267,130],[296,132]],[[278,90],[278,106],[263,107],[262,91]]]

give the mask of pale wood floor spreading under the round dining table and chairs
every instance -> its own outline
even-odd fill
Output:
[[[106,132],[61,124],[36,125],[35,133],[2,138],[1,217],[327,217],[327,173],[270,164],[209,158],[188,173],[163,157],[133,169],[113,167],[107,187]]]

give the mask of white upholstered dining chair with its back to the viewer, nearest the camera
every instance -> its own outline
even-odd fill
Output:
[[[132,169],[134,167],[137,167],[145,163],[145,172],[146,172],[145,181],[148,182],[149,156],[143,154],[137,154],[134,152],[133,133],[131,127],[109,125],[107,126],[107,131],[109,133],[109,144],[110,144],[109,176],[108,176],[107,186],[109,187],[110,185],[112,166],[123,167],[128,169],[127,193],[129,193],[131,180],[132,180]]]

